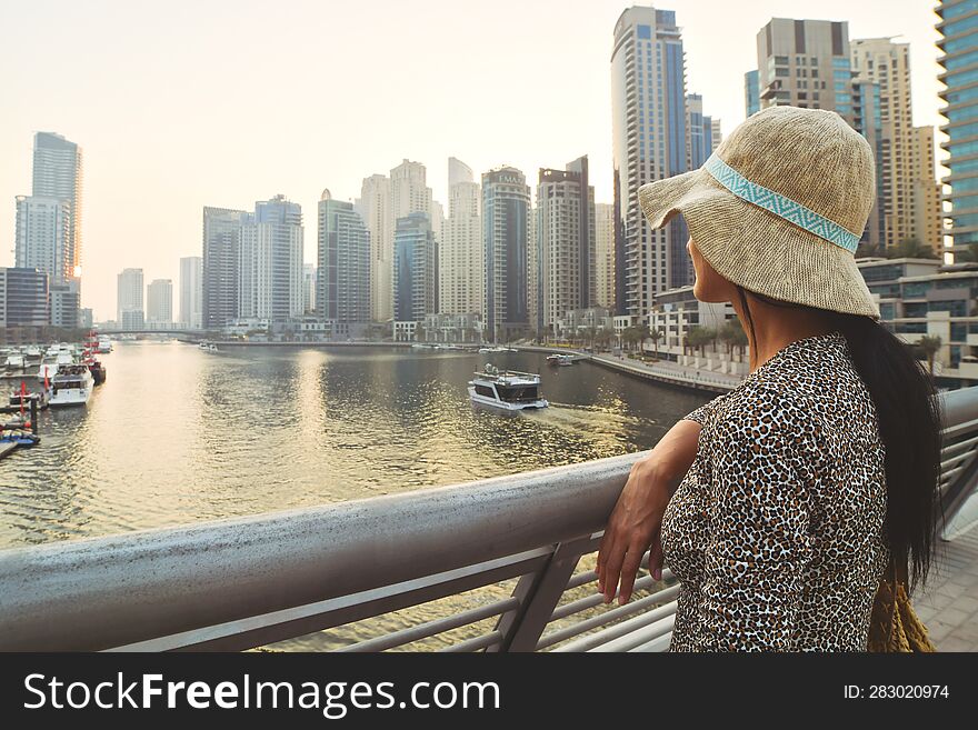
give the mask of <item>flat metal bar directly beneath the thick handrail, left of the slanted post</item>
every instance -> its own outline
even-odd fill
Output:
[[[415,581],[118,647],[114,651],[253,649],[533,572],[546,564],[551,552],[552,548],[538,548]]]

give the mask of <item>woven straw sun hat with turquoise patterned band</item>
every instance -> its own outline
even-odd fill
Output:
[[[725,279],[775,299],[879,320],[856,266],[876,190],[869,143],[834,111],[769,107],[699,169],[638,189],[652,228],[681,213]]]

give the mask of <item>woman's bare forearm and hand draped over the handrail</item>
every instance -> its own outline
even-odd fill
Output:
[[[605,594],[606,603],[615,598],[619,579],[621,590],[618,602],[628,602],[642,554],[650,546],[649,572],[657,580],[661,578],[662,546],[659,533],[662,514],[692,464],[699,431],[700,426],[696,421],[679,421],[651,453],[632,464],[598,549],[598,592]]]

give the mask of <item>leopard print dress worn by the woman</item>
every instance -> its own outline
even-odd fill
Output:
[[[789,343],[686,418],[702,430],[662,519],[669,651],[866,651],[885,451],[846,337]]]

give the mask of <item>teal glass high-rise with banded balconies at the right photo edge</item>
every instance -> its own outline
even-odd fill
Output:
[[[945,89],[939,93],[947,119],[940,130],[947,134],[941,149],[948,152],[942,163],[950,174],[942,179],[950,187],[945,200],[950,202],[948,231],[954,250],[967,250],[978,243],[978,84],[975,62],[978,59],[978,13],[974,0],[944,0],[936,8],[940,20],[937,30],[941,51],[938,59],[945,71],[938,79]]]

